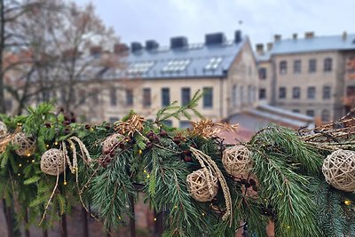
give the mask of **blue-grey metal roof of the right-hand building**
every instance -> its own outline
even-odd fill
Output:
[[[355,34],[347,35],[345,38],[339,35],[281,40],[273,44],[272,54],[345,50],[355,50]]]

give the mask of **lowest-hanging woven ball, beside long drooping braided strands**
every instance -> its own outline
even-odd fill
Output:
[[[206,168],[193,171],[186,182],[190,194],[197,201],[211,201],[218,192],[217,178]]]

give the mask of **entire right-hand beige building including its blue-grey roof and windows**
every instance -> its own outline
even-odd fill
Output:
[[[355,35],[294,35],[275,41],[268,51],[256,45],[259,56],[259,99],[330,122],[344,115],[346,55],[355,51]],[[350,56],[348,56],[350,57]]]

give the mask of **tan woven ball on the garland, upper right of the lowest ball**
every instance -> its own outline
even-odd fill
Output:
[[[248,148],[243,145],[226,148],[222,156],[225,170],[233,177],[248,175],[253,165],[250,155]]]

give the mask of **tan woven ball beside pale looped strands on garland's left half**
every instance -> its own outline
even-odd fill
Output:
[[[41,170],[47,175],[57,176],[67,166],[67,154],[57,148],[51,148],[41,157]]]

